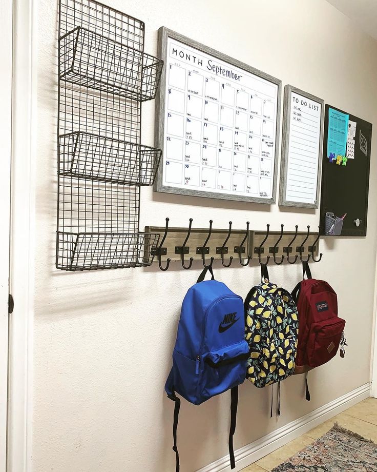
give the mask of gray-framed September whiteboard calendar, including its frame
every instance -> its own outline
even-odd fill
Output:
[[[281,81],[164,27],[155,190],[275,203]]]

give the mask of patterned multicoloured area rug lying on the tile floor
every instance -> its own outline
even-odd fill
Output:
[[[377,472],[377,445],[338,424],[272,472]]]

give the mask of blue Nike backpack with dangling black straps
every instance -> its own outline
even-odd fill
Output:
[[[204,281],[207,270],[212,279]],[[176,392],[194,405],[232,389],[229,457],[235,468],[233,435],[236,429],[238,385],[246,377],[249,347],[245,341],[242,298],[214,280],[211,266],[205,267],[198,282],[186,293],[182,303],[173,367],[165,384],[167,396],[175,402],[173,450],[179,472],[177,426],[180,399]]]

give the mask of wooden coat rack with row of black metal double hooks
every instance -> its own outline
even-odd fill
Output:
[[[161,270],[177,261],[190,269],[195,260],[201,260],[204,266],[221,260],[224,267],[230,267],[235,263],[246,266],[253,258],[260,262],[271,259],[277,265],[322,259],[322,253],[318,257],[320,233],[310,232],[310,226],[306,231],[298,231],[298,226],[295,231],[285,231],[281,225],[280,231],[270,231],[267,224],[266,231],[255,231],[249,229],[249,222],[244,229],[234,229],[231,221],[227,229],[213,229],[212,220],[208,228],[192,228],[192,222],[190,218],[188,228],[169,228],[166,218],[165,227],[145,227],[146,233],[160,235],[160,244],[152,247],[151,253]]]

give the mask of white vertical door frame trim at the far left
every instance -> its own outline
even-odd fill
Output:
[[[7,472],[31,472],[36,0],[13,0]]]

